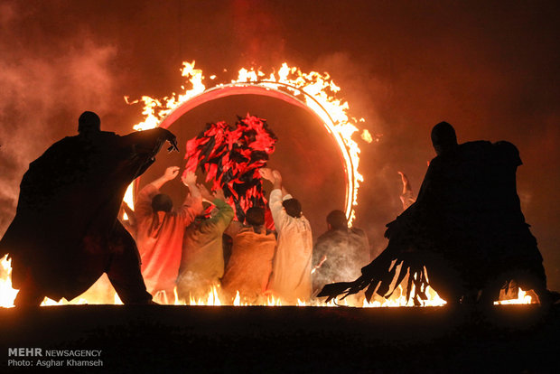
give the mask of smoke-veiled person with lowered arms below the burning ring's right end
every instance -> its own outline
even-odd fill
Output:
[[[361,266],[367,265],[369,260],[369,242],[365,232],[349,228],[344,212],[332,210],[327,215],[327,231],[313,247],[313,295],[331,282],[356,279]]]

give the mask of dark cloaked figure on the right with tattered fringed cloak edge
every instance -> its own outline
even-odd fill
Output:
[[[416,304],[428,284],[448,303],[491,304],[501,287],[516,280],[548,302],[543,258],[520,208],[516,146],[458,145],[446,122],[434,126],[432,141],[437,156],[415,203],[387,225],[385,251],[356,281],[326,285],[320,296],[330,300],[368,288],[368,298],[374,292],[388,297],[397,277],[396,285],[407,279],[407,296]]]

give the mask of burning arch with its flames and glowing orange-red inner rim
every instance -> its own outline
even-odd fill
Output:
[[[205,79],[202,70],[194,69],[193,61],[183,62],[182,76],[186,77],[191,85],[190,89],[182,86],[182,94],[173,93],[171,97],[163,99],[147,96],[141,98],[145,104],[145,120],[136,124],[135,130],[171,126],[192,108],[216,98],[253,94],[284,100],[317,117],[339,146],[346,175],[345,212],[350,223],[354,220],[359,182],[363,182],[363,176],[358,171],[359,146],[352,136],[359,131],[358,124],[364,122],[364,119],[349,117],[349,105],[337,98],[341,89],[332,82],[328,74],[314,71],[303,73],[284,63],[278,71],[268,77],[260,70],[241,69],[238,71],[238,79],[229,83],[217,83],[207,89],[202,83]],[[210,76],[210,79],[214,80],[216,76]],[[363,131],[362,139],[371,142],[367,130]]]

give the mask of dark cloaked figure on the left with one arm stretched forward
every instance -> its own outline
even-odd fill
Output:
[[[126,187],[154,163],[168,140],[163,128],[127,136],[100,131],[84,112],[79,135],[51,145],[29,165],[15,218],[0,241],[12,258],[15,304],[39,305],[44,296],[70,300],[104,272],[125,304],[150,303],[134,239],[117,220]]]

